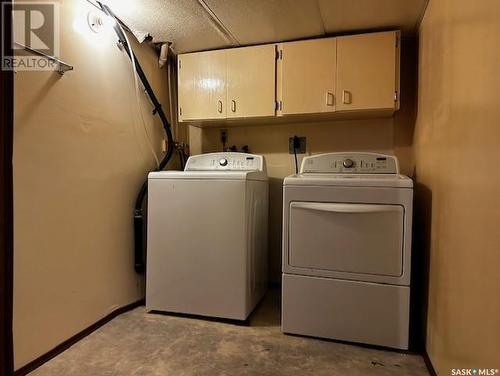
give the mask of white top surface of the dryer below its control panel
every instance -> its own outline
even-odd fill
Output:
[[[413,181],[399,174],[343,175],[343,174],[298,174],[285,178],[285,186],[343,186],[343,187],[393,187],[412,188]]]

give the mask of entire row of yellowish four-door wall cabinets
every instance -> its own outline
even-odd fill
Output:
[[[399,108],[398,31],[182,54],[178,64],[180,121]]]

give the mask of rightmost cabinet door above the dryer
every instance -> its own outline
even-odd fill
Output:
[[[395,108],[397,32],[337,38],[337,110]]]

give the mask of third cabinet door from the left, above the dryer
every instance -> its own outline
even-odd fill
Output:
[[[283,43],[280,48],[280,114],[333,112],[336,38]]]

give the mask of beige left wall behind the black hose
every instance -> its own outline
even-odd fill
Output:
[[[85,1],[61,2],[61,57],[73,72],[15,75],[16,368],[143,296],[132,214],[154,162],[116,37],[73,28],[88,9]],[[166,105],[165,71],[149,46],[137,52]],[[159,148],[161,124],[143,102]]]

